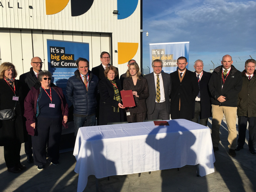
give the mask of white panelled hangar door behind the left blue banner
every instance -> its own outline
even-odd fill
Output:
[[[100,64],[102,51],[111,49],[109,34],[0,29],[0,37],[0,62],[13,63],[18,77],[29,71],[33,54],[44,62],[42,69],[48,69],[47,39],[89,43],[90,69]]]

